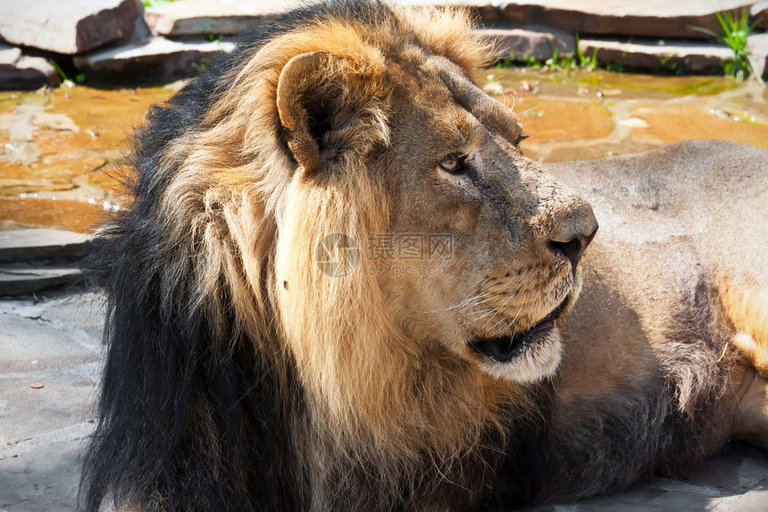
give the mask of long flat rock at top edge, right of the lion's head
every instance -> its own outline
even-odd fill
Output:
[[[692,29],[720,32],[715,13],[749,8],[745,0],[522,0],[505,2],[507,21],[579,33],[641,38],[709,38]]]

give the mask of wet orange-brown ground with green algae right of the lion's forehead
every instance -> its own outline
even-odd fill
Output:
[[[768,89],[755,81],[507,69],[478,78],[521,116],[531,136],[522,147],[544,162],[638,153],[686,138],[768,148]]]

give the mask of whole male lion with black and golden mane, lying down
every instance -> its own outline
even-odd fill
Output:
[[[768,444],[765,154],[558,166],[582,271],[595,216],[488,55],[453,11],[323,4],[152,110],[92,260],[84,508],[505,508]]]

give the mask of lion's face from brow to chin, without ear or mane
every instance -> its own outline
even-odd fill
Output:
[[[511,111],[447,66],[435,74],[400,91],[391,150],[372,166],[391,177],[399,251],[379,250],[391,260],[379,261],[380,282],[420,342],[530,382],[560,360],[557,320],[579,293],[579,258],[597,222],[522,155]]]

